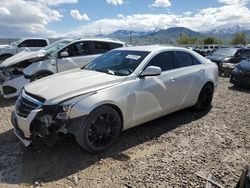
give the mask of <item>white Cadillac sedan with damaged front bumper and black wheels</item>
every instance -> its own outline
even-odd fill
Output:
[[[208,109],[217,81],[217,66],[188,49],[119,48],[25,86],[12,123],[25,146],[71,133],[96,153],[122,130],[191,106]]]

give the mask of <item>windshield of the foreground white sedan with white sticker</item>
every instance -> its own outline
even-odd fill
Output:
[[[117,76],[128,76],[145,59],[149,52],[114,50],[90,62],[84,69]]]

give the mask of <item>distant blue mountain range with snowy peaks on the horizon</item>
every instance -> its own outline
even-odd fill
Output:
[[[213,36],[225,42],[229,42],[237,32],[245,33],[248,42],[250,42],[250,30],[247,30],[239,25],[227,28],[222,27],[207,32],[198,32],[185,27],[171,27],[168,29],[160,29],[154,31],[117,30],[111,34],[105,35],[105,37],[117,38],[128,43],[131,42],[132,39],[133,44],[172,44],[176,43],[176,40],[182,34],[185,34],[189,37],[199,39]]]

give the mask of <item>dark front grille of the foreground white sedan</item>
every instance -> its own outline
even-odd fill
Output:
[[[32,110],[42,106],[42,102],[22,93],[21,98],[17,101],[16,110],[20,117],[27,118]]]

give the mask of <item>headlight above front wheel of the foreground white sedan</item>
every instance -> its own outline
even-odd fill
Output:
[[[63,102],[61,102],[60,105],[60,112],[57,114],[57,119],[69,119],[70,117],[70,111],[71,108],[80,100],[89,97],[91,95],[96,94],[97,92],[90,92],[90,93],[86,93],[80,96],[76,96],[70,99],[67,99]]]

